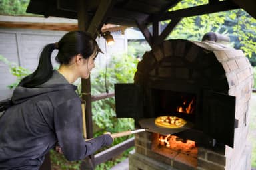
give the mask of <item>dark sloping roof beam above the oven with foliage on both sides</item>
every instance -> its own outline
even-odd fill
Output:
[[[233,9],[239,9],[239,6],[235,5],[231,1],[219,1],[214,5],[209,5],[209,4],[199,5],[197,7],[190,7],[187,9],[179,9],[176,11],[161,13],[159,15],[155,15],[155,19],[157,19],[157,21],[165,21],[168,19],[192,17],[196,15],[203,15],[207,13],[217,13],[220,11],[228,11]]]

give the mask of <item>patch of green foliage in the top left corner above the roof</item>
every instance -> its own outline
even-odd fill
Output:
[[[24,15],[28,4],[29,0],[0,0],[0,14]]]

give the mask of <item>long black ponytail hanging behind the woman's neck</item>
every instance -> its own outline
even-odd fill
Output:
[[[53,65],[51,64],[51,53],[53,50],[57,49],[58,46],[57,43],[47,44],[39,58],[39,64],[37,66],[37,69],[35,72],[30,74],[29,76],[26,76],[19,82],[18,86],[23,86],[27,88],[33,88],[35,86],[38,86],[40,84],[43,84],[51,76],[53,75]]]

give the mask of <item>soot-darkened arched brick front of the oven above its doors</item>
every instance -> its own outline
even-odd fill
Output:
[[[227,93],[229,80],[217,47],[209,49],[203,42],[182,39],[164,41],[145,52],[137,66],[135,83],[160,88],[161,84],[177,84],[178,88],[180,84]]]

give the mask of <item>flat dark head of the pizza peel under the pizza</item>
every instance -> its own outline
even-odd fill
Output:
[[[146,131],[160,133],[161,135],[172,135],[174,133],[179,133],[181,131],[193,128],[193,124],[188,121],[183,127],[180,128],[162,128],[155,124],[155,118],[139,120],[139,125],[141,128],[146,129]]]

